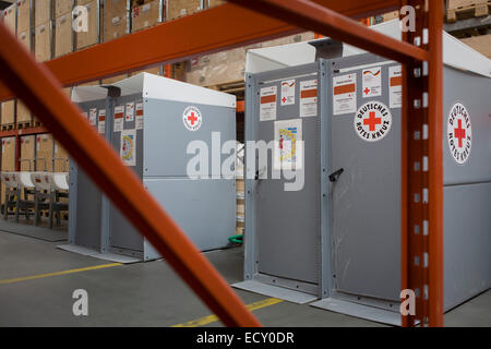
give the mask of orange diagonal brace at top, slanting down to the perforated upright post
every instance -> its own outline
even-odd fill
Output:
[[[357,21],[309,0],[229,0],[244,8],[362,48],[372,53],[408,63],[426,61],[428,51],[367,28]]]

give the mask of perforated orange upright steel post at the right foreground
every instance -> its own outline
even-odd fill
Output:
[[[424,3],[403,1],[417,10],[404,39],[430,55],[427,68],[404,69],[402,288],[415,291],[416,314],[403,326],[443,326],[443,3]]]

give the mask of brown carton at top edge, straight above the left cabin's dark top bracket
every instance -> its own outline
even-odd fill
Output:
[[[104,3],[104,41],[127,35],[127,1],[106,0]]]

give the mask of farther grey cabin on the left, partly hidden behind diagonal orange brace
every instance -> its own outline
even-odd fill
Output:
[[[228,244],[235,180],[216,164],[228,159],[233,173],[236,96],[141,73],[110,86],[74,87],[72,100],[200,250]],[[61,248],[115,261],[159,257],[71,164],[69,244]]]

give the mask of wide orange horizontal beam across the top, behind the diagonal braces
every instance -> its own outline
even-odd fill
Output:
[[[316,1],[357,19],[393,10],[398,4],[397,0]],[[95,45],[45,64],[63,86],[71,86],[300,32],[302,29],[292,23],[226,3]],[[0,101],[12,97],[5,86],[0,86]]]

